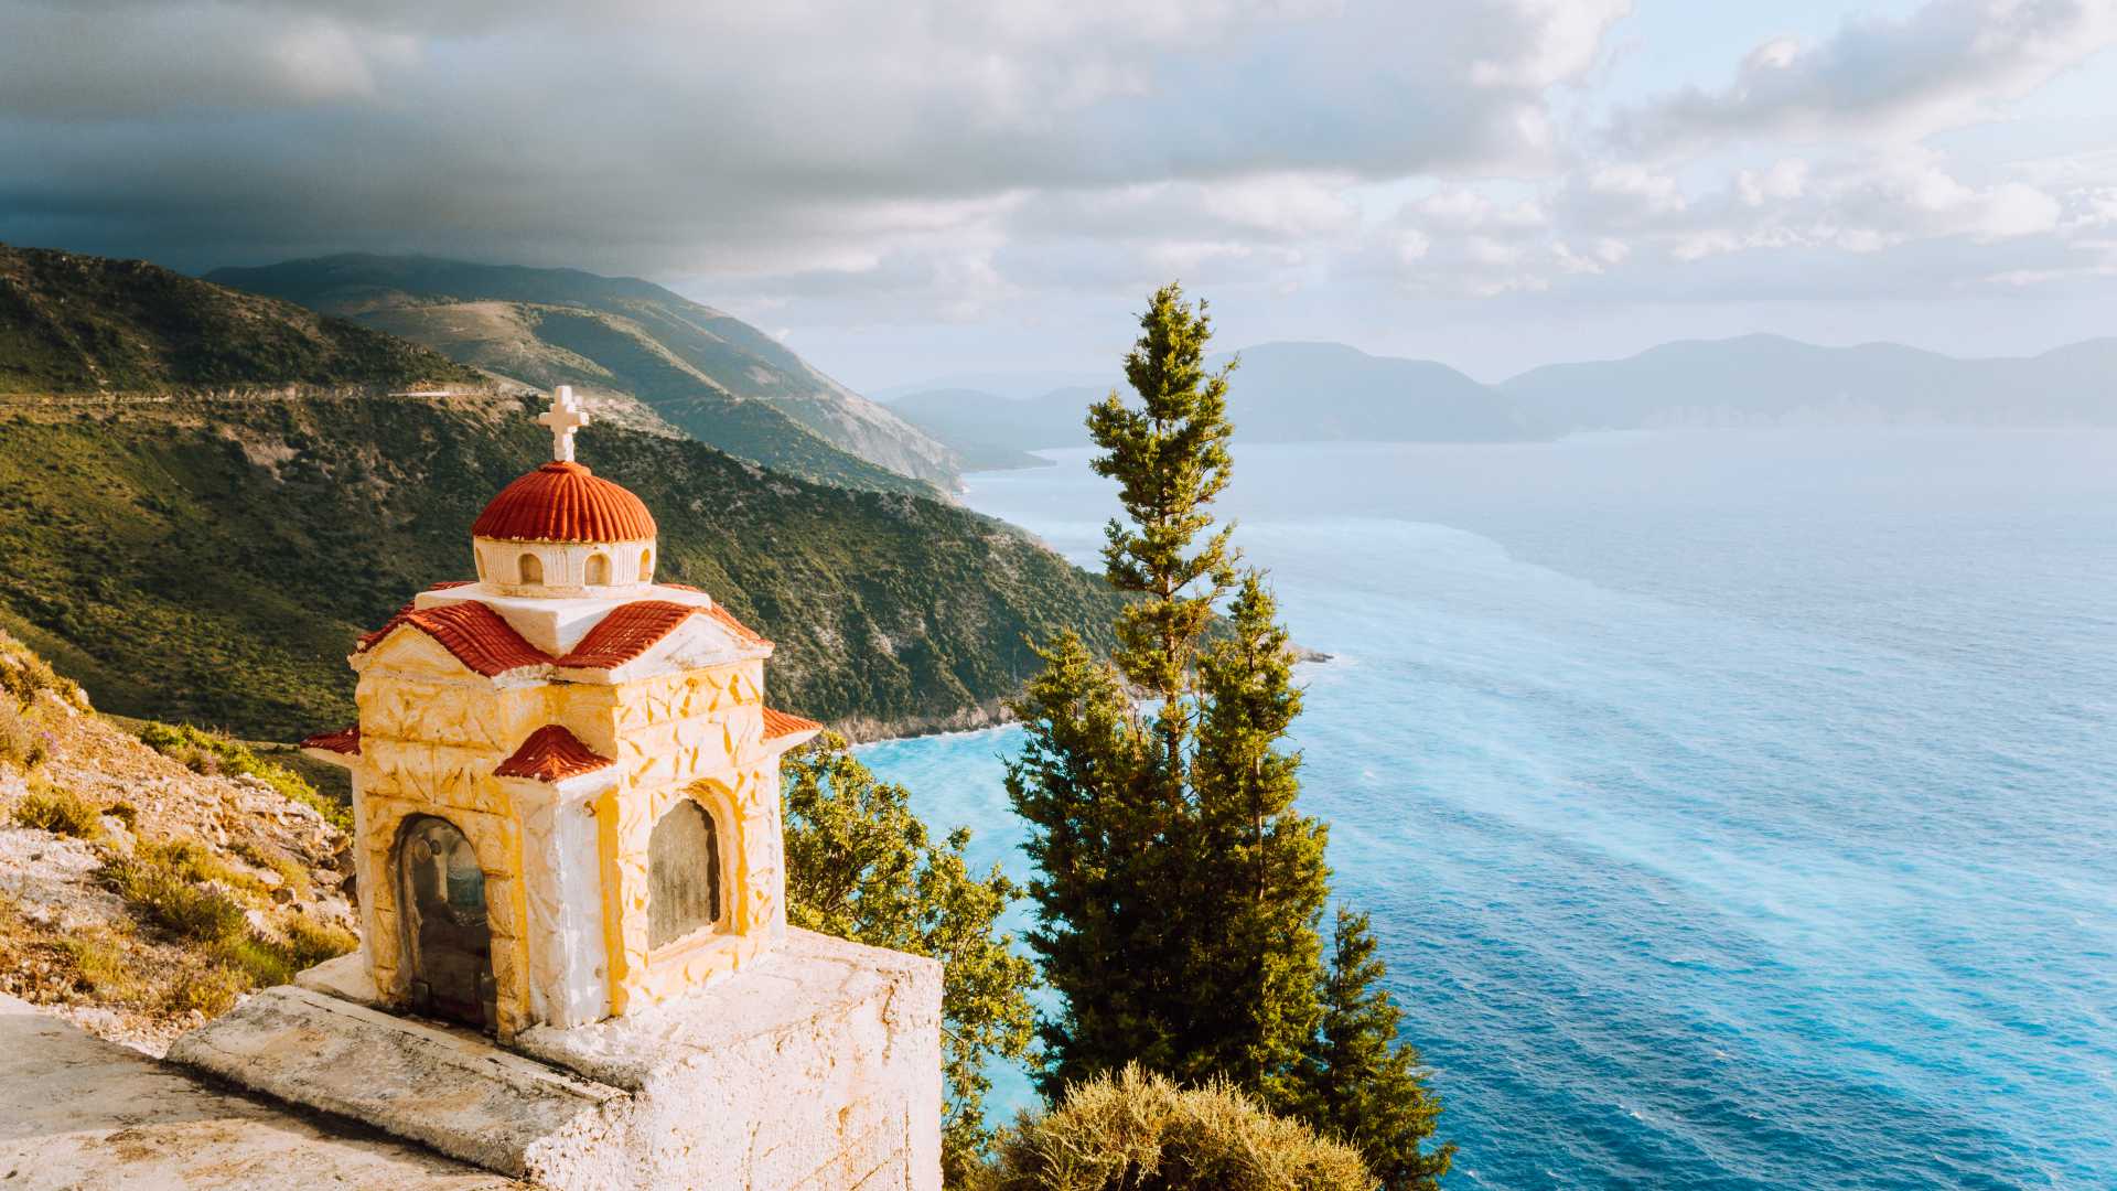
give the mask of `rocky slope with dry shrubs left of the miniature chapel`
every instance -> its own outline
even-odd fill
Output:
[[[271,754],[95,714],[0,634],[0,992],[159,1055],[354,947],[343,814]]]

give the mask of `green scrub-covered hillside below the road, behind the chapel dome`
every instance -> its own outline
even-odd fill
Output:
[[[548,458],[531,405],[0,405],[0,625],[112,712],[250,740],[351,723],[354,636],[470,574],[478,509]],[[976,723],[1035,670],[1025,636],[1116,608],[1101,581],[940,500],[610,426],[582,432],[580,458],[654,511],[663,581],[779,642],[775,704],[855,731]]]

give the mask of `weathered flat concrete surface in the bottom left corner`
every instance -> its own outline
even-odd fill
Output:
[[[0,996],[0,1187],[500,1191],[523,1185],[341,1121],[224,1091]]]

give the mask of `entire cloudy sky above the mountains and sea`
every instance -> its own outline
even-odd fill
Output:
[[[0,239],[637,273],[860,388],[2117,333],[2117,0],[0,0]]]

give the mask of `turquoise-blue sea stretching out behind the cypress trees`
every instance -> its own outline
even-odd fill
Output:
[[[1092,562],[1084,454],[970,504]],[[2117,434],[1253,447],[1450,1187],[2117,1187]],[[870,746],[1023,871],[1008,729]],[[1020,1096],[1020,1085],[1010,1085]]]

